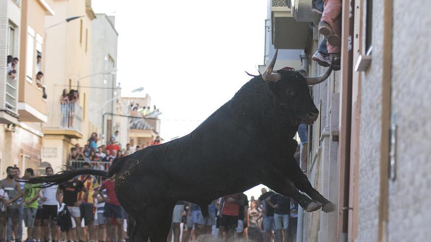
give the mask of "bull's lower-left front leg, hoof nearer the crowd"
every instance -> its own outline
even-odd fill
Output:
[[[281,195],[293,198],[307,212],[316,211],[322,207],[321,202],[300,193],[293,182],[280,172],[271,172],[262,183]]]

